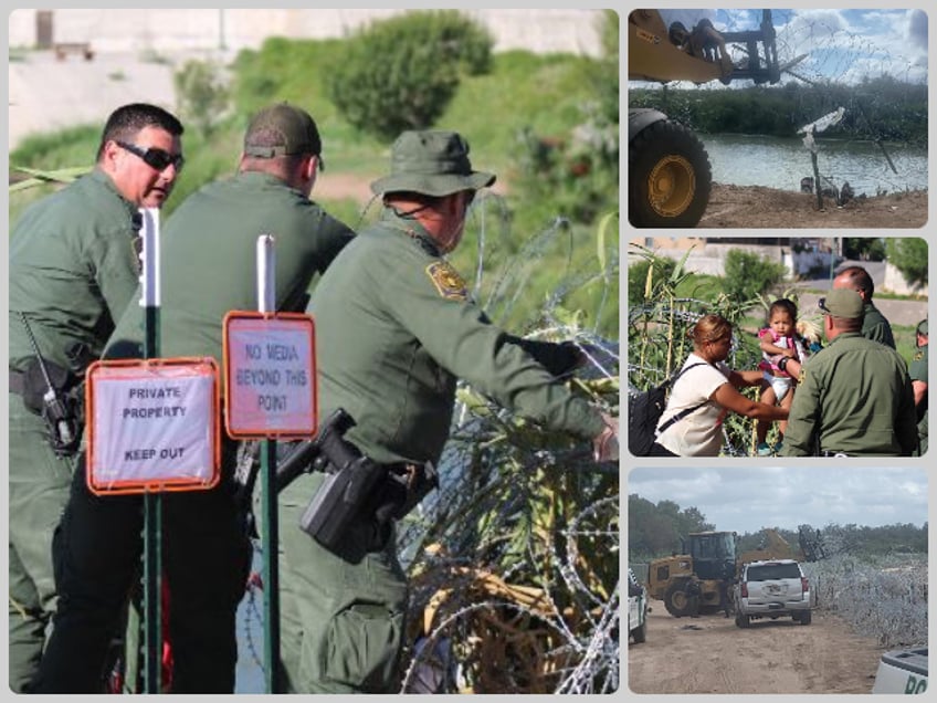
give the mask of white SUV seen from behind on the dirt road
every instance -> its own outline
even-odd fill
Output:
[[[810,625],[810,584],[794,559],[746,564],[734,596],[735,623],[740,628],[758,618],[791,617]]]

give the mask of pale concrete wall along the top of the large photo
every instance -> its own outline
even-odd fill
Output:
[[[347,35],[406,10],[52,10],[53,42],[91,42],[95,52],[256,49],[267,36]],[[599,55],[601,10],[462,10],[485,24],[495,51]],[[33,48],[38,12],[13,10],[9,45]]]

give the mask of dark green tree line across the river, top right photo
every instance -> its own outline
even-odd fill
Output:
[[[824,137],[927,145],[927,85],[888,75],[859,85],[790,82],[738,90],[635,88],[629,107],[653,107],[703,134],[794,137],[797,130],[844,107]]]

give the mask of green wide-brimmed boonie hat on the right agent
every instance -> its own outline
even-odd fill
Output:
[[[376,195],[406,191],[441,198],[493,182],[494,174],[472,170],[468,143],[457,133],[409,130],[391,147],[390,176],[372,182],[371,190]]]

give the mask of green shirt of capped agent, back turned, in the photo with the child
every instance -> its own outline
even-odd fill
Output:
[[[909,455],[916,424],[904,359],[860,333],[841,333],[803,367],[781,455],[812,455],[814,437],[824,452]]]

